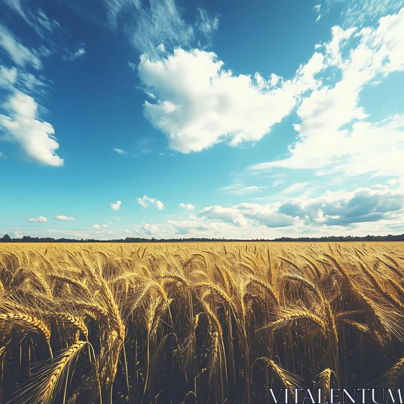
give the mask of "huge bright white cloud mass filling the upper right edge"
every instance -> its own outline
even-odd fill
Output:
[[[341,172],[347,176],[404,175],[404,115],[390,115],[369,122],[360,106],[364,85],[375,77],[404,70],[404,8],[380,19],[376,29],[332,30],[333,39],[324,45],[326,64],[341,71],[333,87],[314,90],[297,109],[301,123],[294,126],[297,142],[289,157],[252,166],[253,169],[312,168],[318,175]],[[346,57],[344,49],[354,43]],[[353,123],[352,123],[353,122]],[[351,127],[341,129],[344,125]]]

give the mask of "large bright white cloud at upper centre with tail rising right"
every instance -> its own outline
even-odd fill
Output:
[[[324,67],[324,57],[314,54],[300,66],[292,80],[265,80],[235,76],[224,70],[213,52],[174,50],[174,55],[153,61],[140,57],[139,76],[157,102],[144,103],[148,120],[167,133],[172,149],[200,151],[228,139],[232,145],[259,140],[287,116],[301,93],[317,88],[314,79]]]

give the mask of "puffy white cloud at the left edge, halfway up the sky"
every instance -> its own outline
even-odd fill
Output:
[[[10,140],[17,142],[26,156],[37,163],[63,166],[64,160],[55,153],[59,148],[55,129],[50,123],[35,119],[38,104],[34,98],[15,90],[5,107],[10,117],[0,114],[0,127]]]

